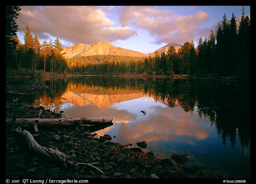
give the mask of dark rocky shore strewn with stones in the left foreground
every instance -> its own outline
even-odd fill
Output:
[[[6,104],[9,118],[61,118],[60,113],[22,103]],[[21,127],[26,129],[26,127]],[[142,145],[120,144],[108,134],[98,136],[84,127],[48,127],[37,134],[40,146],[57,149],[76,163],[64,168],[33,153],[12,128],[6,127],[6,178],[223,178],[184,154],[160,157]],[[143,140],[141,140],[143,141]],[[144,143],[144,144],[143,144]],[[100,172],[101,171],[101,172]]]

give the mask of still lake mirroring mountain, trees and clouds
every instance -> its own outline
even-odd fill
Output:
[[[96,131],[122,144],[145,141],[156,155],[185,153],[233,178],[250,178],[250,84],[216,80],[124,77],[16,78],[46,84],[8,101],[43,106],[66,118],[111,118]]]

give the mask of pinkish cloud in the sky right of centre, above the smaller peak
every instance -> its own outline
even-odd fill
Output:
[[[209,28],[204,27],[210,16],[202,11],[194,15],[177,15],[174,11],[160,10],[156,7],[125,6],[119,14],[122,26],[132,25],[147,30],[155,38],[156,44],[184,43],[200,37],[200,33],[206,30],[210,33]]]

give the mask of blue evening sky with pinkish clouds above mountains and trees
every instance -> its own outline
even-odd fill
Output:
[[[241,6],[21,6],[17,35],[24,43],[28,25],[40,43],[58,37],[63,47],[105,41],[113,46],[149,54],[169,43],[184,44],[211,30],[232,13],[237,25]],[[250,6],[244,6],[250,18]]]

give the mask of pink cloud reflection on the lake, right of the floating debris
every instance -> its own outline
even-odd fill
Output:
[[[209,131],[204,126],[205,121],[199,119],[197,114],[184,113],[182,108],[173,108],[172,113],[169,107],[152,108],[155,109],[155,113],[150,114],[148,119],[132,124],[121,124],[118,131],[124,142],[170,141],[183,135],[203,140],[209,136]]]

